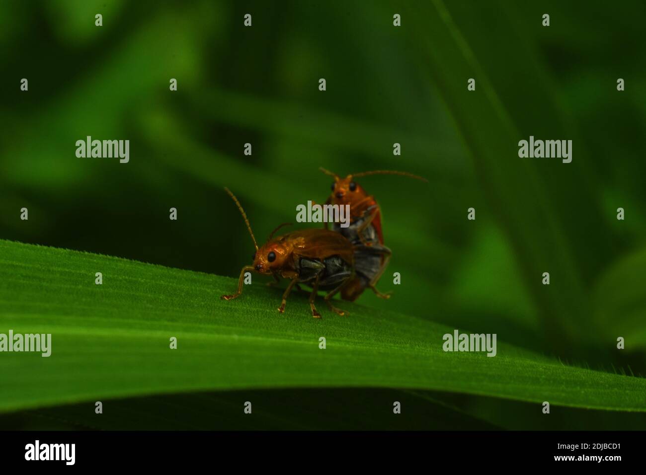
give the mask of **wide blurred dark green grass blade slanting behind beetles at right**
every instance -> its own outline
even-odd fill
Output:
[[[556,94],[546,87],[552,83],[544,65],[532,45],[513,37],[520,32],[510,37],[507,29],[497,27],[514,23],[515,12],[511,3],[491,8],[433,0],[406,13],[415,37],[422,39],[415,45],[422,52],[421,70],[437,84],[474,158],[486,206],[510,237],[549,340],[559,353],[571,353],[596,343],[599,333],[590,324],[587,279],[608,259],[594,249],[607,248],[610,238],[588,180],[583,143],[563,119]],[[486,34],[477,28],[486,28]],[[475,78],[475,91],[467,90],[468,78]],[[531,93],[522,100],[514,96],[518,87],[533,86],[536,78],[540,81],[528,89]],[[538,128],[537,122],[549,127]],[[545,138],[574,138],[579,158],[567,165],[520,159],[518,141],[530,134],[543,138],[543,132]],[[545,271],[552,277],[549,287],[540,284]]]

